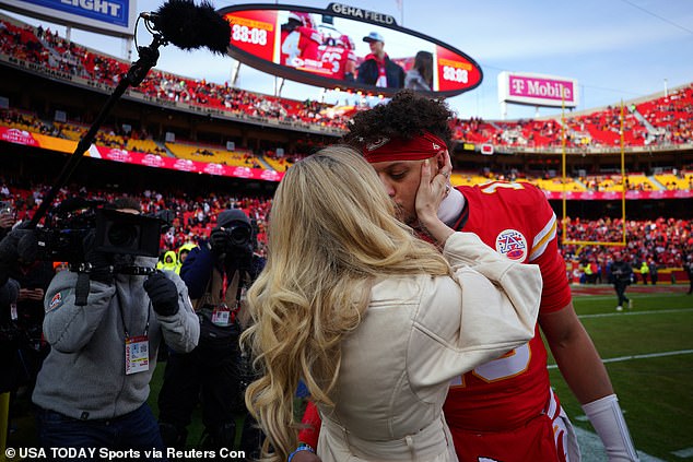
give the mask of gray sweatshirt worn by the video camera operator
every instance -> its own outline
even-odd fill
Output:
[[[156,259],[138,257],[136,263],[153,268]],[[110,285],[91,281],[87,305],[75,306],[78,274],[56,274],[44,301],[44,335],[51,351],[38,374],[34,403],[79,419],[109,419],[140,407],[149,398],[162,336],[171,348],[190,352],[200,335],[185,283],[174,272],[164,274],[178,287],[179,309],[173,316],[156,315],[143,287],[146,276],[118,274]],[[126,375],[126,330],[130,337],[148,331],[148,370]]]

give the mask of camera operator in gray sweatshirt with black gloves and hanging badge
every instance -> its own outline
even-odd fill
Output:
[[[129,198],[106,208],[140,213]],[[33,395],[40,445],[164,451],[146,405],[157,348],[165,340],[191,351],[199,323],[184,282],[155,271],[156,258],[104,252],[96,240],[94,230],[84,238],[89,277],[61,271],[46,293],[44,335],[51,351]]]

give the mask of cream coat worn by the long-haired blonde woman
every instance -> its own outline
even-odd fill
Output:
[[[342,344],[334,407],[319,405],[318,455],[331,461],[457,461],[443,416],[449,381],[529,341],[541,297],[532,264],[470,233],[444,248],[448,276],[378,282]]]

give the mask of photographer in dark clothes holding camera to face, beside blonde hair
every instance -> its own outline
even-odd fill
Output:
[[[188,354],[172,354],[158,395],[160,427],[167,447],[184,448],[192,408],[202,401],[204,447],[233,448],[235,413],[244,412],[238,315],[245,292],[262,270],[252,225],[240,210],[219,214],[209,241],[188,254],[180,276],[200,319],[200,343]],[[201,396],[200,396],[201,394]],[[246,418],[242,450],[256,452],[259,430]]]

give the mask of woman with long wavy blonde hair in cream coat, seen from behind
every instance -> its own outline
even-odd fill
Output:
[[[322,417],[324,462],[457,460],[448,382],[532,337],[541,276],[437,218],[446,180],[422,164],[419,217],[441,253],[396,218],[355,151],[327,147],[287,170],[243,337],[260,371],[246,404],[268,460],[296,447],[299,378]]]

